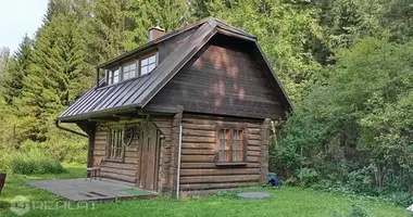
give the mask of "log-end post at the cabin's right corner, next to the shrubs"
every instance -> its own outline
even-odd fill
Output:
[[[261,125],[260,182],[265,183],[268,175],[268,145],[271,119],[266,118]]]

